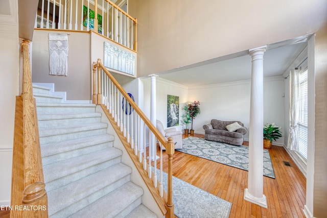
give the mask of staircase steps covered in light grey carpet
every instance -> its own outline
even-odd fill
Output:
[[[61,103],[33,84],[50,217],[157,217],[94,104]]]

